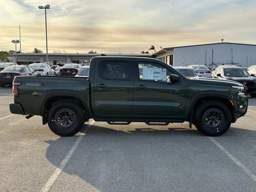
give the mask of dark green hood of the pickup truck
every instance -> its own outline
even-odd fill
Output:
[[[200,77],[191,77],[189,79],[196,79],[200,83],[204,84],[217,84],[217,85],[230,85],[230,86],[244,86],[241,83],[232,80],[220,80],[214,78],[200,78]]]

